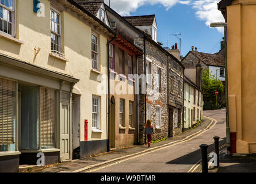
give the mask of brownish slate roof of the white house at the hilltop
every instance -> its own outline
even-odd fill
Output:
[[[223,55],[197,52],[197,51],[190,51],[190,53],[192,53],[198,59],[200,59],[201,62],[204,62],[209,66],[225,67],[225,57]]]

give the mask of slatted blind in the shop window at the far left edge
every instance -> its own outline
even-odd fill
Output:
[[[16,82],[0,78],[0,144],[14,143]]]

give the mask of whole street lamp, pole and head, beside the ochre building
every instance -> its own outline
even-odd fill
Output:
[[[227,68],[227,23],[226,22],[215,22],[211,23],[210,27],[224,27],[224,42],[225,42],[225,87],[226,87],[226,132],[227,132],[227,154],[229,155],[231,152],[231,144],[230,144],[230,123],[228,118],[228,68]]]

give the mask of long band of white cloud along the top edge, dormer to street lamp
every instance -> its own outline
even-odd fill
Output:
[[[108,5],[109,0],[104,0]],[[110,0],[110,6],[116,10],[121,16],[130,16],[140,6],[143,5],[163,5],[166,10],[177,3],[183,5],[191,5],[196,10],[196,16],[209,26],[211,22],[223,22],[224,18],[221,12],[217,9],[217,3],[220,0]],[[223,28],[217,28],[223,33]]]

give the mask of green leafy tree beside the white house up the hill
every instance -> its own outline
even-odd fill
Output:
[[[202,71],[202,93],[204,102],[216,102],[215,91],[219,91],[219,96],[224,93],[224,85],[220,79],[215,79],[215,75],[209,69]]]

